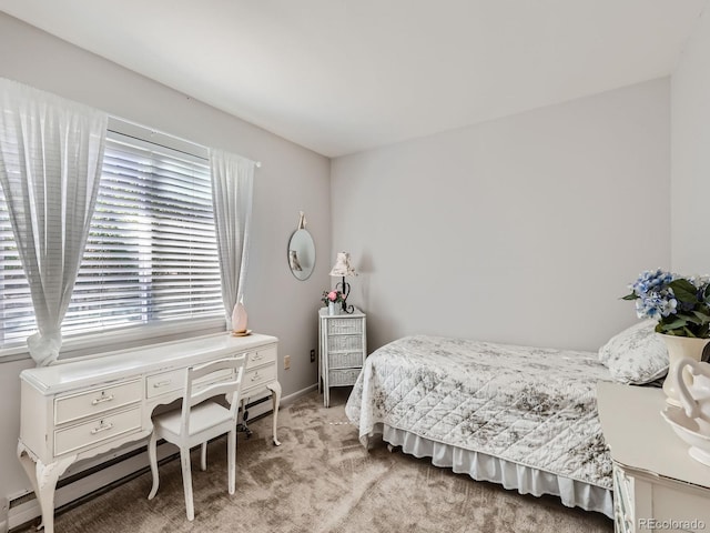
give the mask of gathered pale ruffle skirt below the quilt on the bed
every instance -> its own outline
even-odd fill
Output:
[[[373,436],[381,434],[383,441],[415,457],[432,457],[432,464],[452,469],[457,474],[468,474],[477,481],[489,481],[520,494],[554,494],[568,507],[581,507],[613,517],[612,492],[601,486],[561,477],[549,472],[513,463],[481,452],[443,444],[414,433],[382,423],[375,424]]]

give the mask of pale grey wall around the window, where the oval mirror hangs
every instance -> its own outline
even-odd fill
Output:
[[[329,282],[329,161],[262,129],[82,51],[0,13],[0,76],[103,109],[111,114],[262,162],[256,170],[251,270],[246,285],[250,328],[280,338],[284,394],[312,386],[317,348],[316,312]],[[286,247],[298,211],[316,243],[316,269],[305,282],[288,270]],[[106,346],[115,349],[120,346]],[[19,434],[19,372],[30,362],[0,363],[0,496],[29,487],[14,456]]]

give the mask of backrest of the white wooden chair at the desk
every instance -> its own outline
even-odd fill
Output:
[[[181,432],[190,431],[190,410],[214,396],[224,394],[230,403],[232,420],[236,422],[244,369],[248,354],[234,355],[187,369],[182,400]]]

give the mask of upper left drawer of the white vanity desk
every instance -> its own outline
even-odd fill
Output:
[[[139,402],[142,395],[141,380],[102,386],[54,400],[54,424],[63,424],[85,416],[93,416],[112,409]]]

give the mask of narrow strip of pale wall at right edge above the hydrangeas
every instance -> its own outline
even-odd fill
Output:
[[[710,273],[710,13],[706,8],[671,83],[672,266]]]

